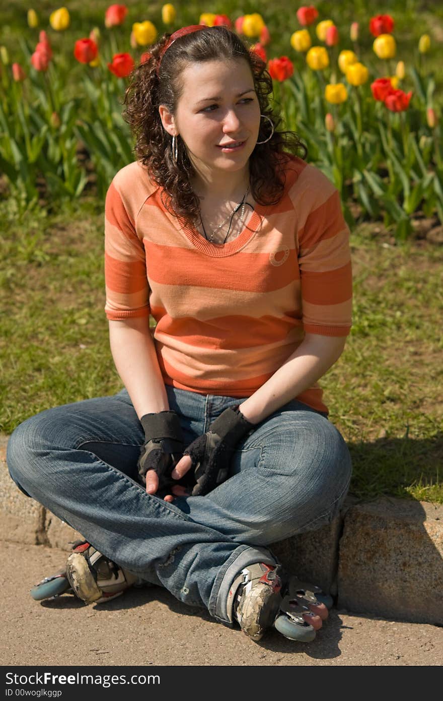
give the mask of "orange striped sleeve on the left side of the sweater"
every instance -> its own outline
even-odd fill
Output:
[[[114,182],[105,203],[106,316],[123,320],[149,316],[149,285],[143,242]]]

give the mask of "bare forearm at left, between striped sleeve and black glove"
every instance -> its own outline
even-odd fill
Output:
[[[115,367],[137,416],[167,411],[169,403],[149,330],[148,317],[109,322]]]

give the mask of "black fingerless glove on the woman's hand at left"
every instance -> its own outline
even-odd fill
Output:
[[[178,484],[172,479],[171,472],[185,447],[180,419],[175,411],[158,411],[157,414],[145,414],[140,423],[145,432],[145,444],[137,463],[140,481],[146,484],[146,472],[154,470],[158,475],[156,494],[165,496],[169,494],[170,486]]]

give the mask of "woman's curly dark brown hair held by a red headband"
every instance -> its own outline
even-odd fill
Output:
[[[295,132],[279,130],[281,118],[274,114],[269,104],[272,78],[265,62],[255,51],[246,48],[237,34],[223,26],[204,27],[181,36],[163,53],[169,36],[171,34],[164,34],[150,49],[148,60],[132,72],[125,93],[124,112],[125,120],[136,138],[136,156],[148,168],[151,179],[166,193],[164,205],[169,212],[190,223],[199,218],[200,202],[191,186],[194,168],[185,144],[179,138],[177,160],[172,158],[171,137],[163,128],[158,109],[160,104],[175,114],[183,92],[180,76],[189,64],[241,59],[246,60],[251,69],[260,113],[269,117],[274,124],[272,138],[265,144],[257,144],[249,159],[251,193],[260,205],[276,204],[283,195],[285,183],[284,156],[282,158],[281,154],[293,153],[306,158],[307,148]],[[263,119],[258,141],[268,136],[269,121]]]

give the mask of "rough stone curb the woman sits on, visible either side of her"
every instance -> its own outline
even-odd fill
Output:
[[[6,467],[7,442],[8,437],[0,437],[3,538],[69,550],[80,533],[17,489]],[[347,498],[328,526],[270,547],[288,571],[337,597],[339,608],[443,625],[441,505]]]

